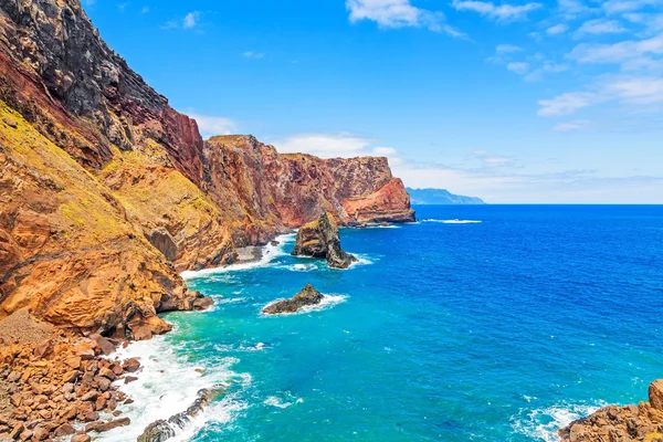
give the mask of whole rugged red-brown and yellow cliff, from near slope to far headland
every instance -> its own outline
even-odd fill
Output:
[[[324,212],[410,221],[385,158],[203,141],[98,36],[78,0],[0,0],[0,319],[149,338],[202,308],[178,272],[231,263]]]

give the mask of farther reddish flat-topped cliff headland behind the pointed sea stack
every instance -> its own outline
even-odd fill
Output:
[[[219,203],[230,190],[250,217],[276,220],[277,227],[296,228],[323,213],[341,224],[414,221],[410,196],[383,157],[280,155],[250,135],[212,137],[206,156],[212,193],[222,196]]]

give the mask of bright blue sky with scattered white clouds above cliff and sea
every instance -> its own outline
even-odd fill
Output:
[[[492,203],[663,203],[663,0],[83,0],[204,137]]]

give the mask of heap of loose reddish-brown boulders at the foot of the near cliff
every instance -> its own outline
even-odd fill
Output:
[[[18,326],[22,336],[13,333]],[[0,337],[9,341],[0,346],[0,440],[83,442],[87,433],[129,424],[117,410],[126,394],[113,382],[140,364],[108,359],[118,343],[67,335],[27,311],[0,320]]]

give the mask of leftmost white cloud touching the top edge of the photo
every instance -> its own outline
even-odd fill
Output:
[[[346,8],[350,12],[352,23],[370,20],[380,28],[428,28],[454,38],[467,38],[463,32],[446,24],[442,12],[417,8],[410,0],[346,0]]]

